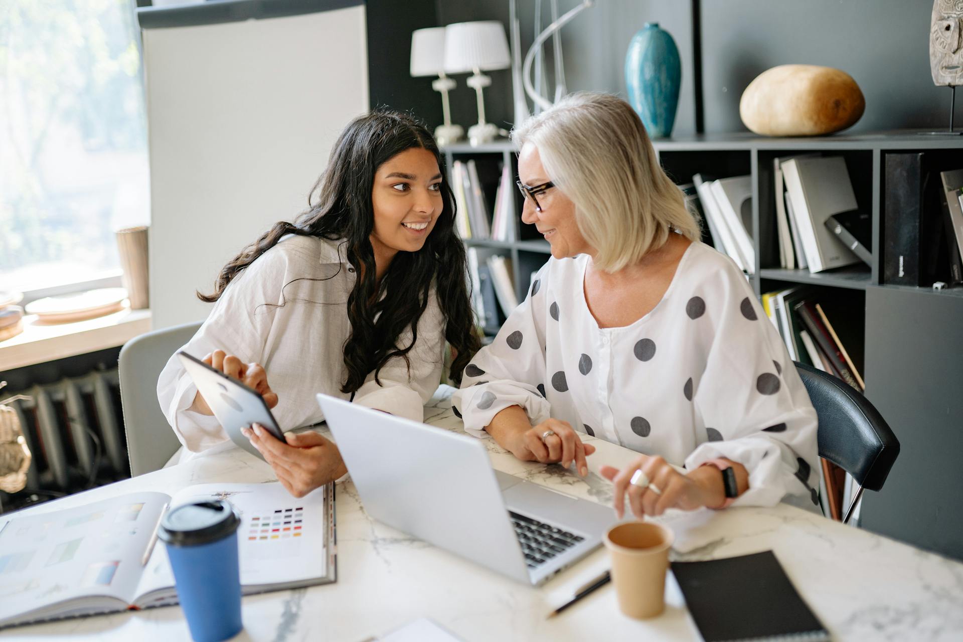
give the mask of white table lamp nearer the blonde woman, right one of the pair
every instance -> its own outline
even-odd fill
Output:
[[[482,71],[508,69],[508,39],[505,27],[497,20],[480,22],[456,22],[445,28],[445,71],[448,73],[472,72],[468,87],[476,91],[479,105],[479,121],[468,128],[468,141],[473,145],[494,141],[499,128],[484,119],[482,88],[491,85],[491,78]]]

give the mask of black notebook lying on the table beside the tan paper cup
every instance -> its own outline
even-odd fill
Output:
[[[706,642],[829,639],[771,551],[671,566]]]

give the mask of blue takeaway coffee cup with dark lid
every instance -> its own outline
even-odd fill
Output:
[[[161,522],[157,536],[167,545],[177,599],[195,642],[221,642],[244,627],[240,525],[240,518],[226,501],[178,506]]]

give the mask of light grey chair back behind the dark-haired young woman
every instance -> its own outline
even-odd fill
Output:
[[[157,378],[170,355],[190,341],[199,327],[200,322],[185,323],[147,332],[120,350],[120,405],[132,476],[163,468],[180,448],[157,400]]]

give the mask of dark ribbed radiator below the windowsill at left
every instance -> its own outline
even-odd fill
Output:
[[[33,453],[28,488],[73,493],[130,476],[117,368],[18,393],[29,397],[11,403]]]

